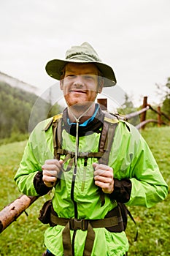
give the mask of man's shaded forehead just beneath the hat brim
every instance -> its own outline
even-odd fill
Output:
[[[93,63],[68,63],[65,67],[66,72],[79,72],[80,74],[98,75],[98,68]]]

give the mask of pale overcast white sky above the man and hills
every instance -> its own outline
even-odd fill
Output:
[[[72,45],[88,41],[135,102],[158,102],[155,83],[170,76],[169,0],[6,0],[0,9],[0,71],[39,87]],[[113,91],[106,91],[112,95]]]

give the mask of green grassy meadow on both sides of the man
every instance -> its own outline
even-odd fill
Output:
[[[170,127],[146,128],[142,135],[147,140],[155,159],[160,166],[166,182],[170,184]],[[23,155],[26,141],[0,146],[0,210],[15,200],[20,193],[13,181],[20,159]],[[45,250],[43,244],[46,225],[37,219],[42,203],[50,196],[41,197],[0,234],[1,256],[32,256],[42,255]],[[169,246],[169,198],[162,203],[147,209],[131,207],[130,211],[139,227],[139,237],[134,242],[136,233],[134,223],[128,220],[127,235],[130,241],[128,255],[170,255]]]

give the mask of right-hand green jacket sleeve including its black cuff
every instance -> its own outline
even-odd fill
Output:
[[[165,199],[168,193],[166,181],[149,146],[135,127],[120,122],[111,154],[115,177],[112,196],[115,200],[127,206],[150,208]]]

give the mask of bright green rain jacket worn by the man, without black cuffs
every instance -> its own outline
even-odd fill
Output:
[[[15,175],[20,192],[26,195],[37,195],[34,188],[34,177],[42,170],[46,159],[53,159],[53,130],[51,118],[39,123],[31,133],[25,148],[23,159]],[[79,138],[80,152],[97,152],[100,134],[87,133]],[[62,147],[75,151],[75,137],[63,129]],[[61,159],[64,157],[61,156]],[[110,195],[105,194],[105,203],[101,207],[98,187],[93,180],[93,162],[89,158],[87,166],[84,159],[78,159],[77,174],[72,182],[74,168],[62,173],[61,180],[55,186],[53,208],[58,217],[77,219],[104,219],[108,211],[117,206]],[[67,163],[66,163],[67,164]],[[63,166],[66,168],[66,164]],[[109,154],[109,166],[113,168],[114,178],[119,180],[129,178],[131,181],[131,196],[127,206],[152,207],[163,200],[168,191],[154,157],[138,130],[125,121],[119,121],[115,138]],[[63,226],[48,227],[45,232],[45,245],[54,255],[63,255]],[[95,241],[92,255],[111,256],[124,255],[128,252],[128,239],[125,232],[112,233],[104,227],[94,228]],[[73,237],[71,230],[71,238]],[[81,256],[85,245],[87,231],[77,230],[74,237],[74,255]]]

